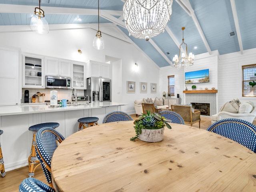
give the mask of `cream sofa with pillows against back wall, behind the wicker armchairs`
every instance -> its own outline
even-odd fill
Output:
[[[164,98],[143,98],[143,99],[136,99],[134,101],[134,109],[136,115],[141,115],[143,113],[142,110],[142,103],[154,103],[156,109],[161,109],[163,107],[169,107],[168,104],[166,104]]]

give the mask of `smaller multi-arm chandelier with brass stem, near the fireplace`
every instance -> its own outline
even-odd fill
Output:
[[[194,64],[194,54],[189,53],[188,54],[188,48],[187,44],[184,43],[184,29],[185,27],[182,27],[182,44],[180,44],[180,54],[175,55],[172,61],[174,62],[174,67],[177,67],[177,69],[180,69],[181,67],[189,68],[191,65]]]

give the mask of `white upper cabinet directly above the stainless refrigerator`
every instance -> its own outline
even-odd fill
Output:
[[[87,77],[102,77],[102,78],[110,78],[112,77],[112,67],[111,64],[102,63],[97,61],[89,61],[87,62],[86,74]]]

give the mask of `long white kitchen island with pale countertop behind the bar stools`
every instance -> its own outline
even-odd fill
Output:
[[[28,165],[28,156],[33,133],[28,130],[32,125],[44,122],[58,122],[56,128],[65,138],[78,131],[78,119],[95,116],[101,124],[104,116],[112,111],[122,110],[124,103],[92,102],[50,108],[48,105],[31,104],[0,107],[0,137],[4,167],[6,171]]]

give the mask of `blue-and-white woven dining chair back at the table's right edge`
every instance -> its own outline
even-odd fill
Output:
[[[241,119],[222,119],[212,124],[210,132],[232,139],[256,153],[256,126]]]

